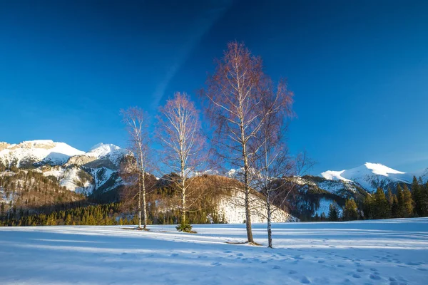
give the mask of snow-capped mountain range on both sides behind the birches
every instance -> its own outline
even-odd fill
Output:
[[[117,195],[106,194],[117,192],[118,187],[123,185],[118,170],[121,160],[128,154],[128,150],[103,143],[83,152],[64,142],[52,140],[32,140],[19,144],[0,142],[0,164],[6,167],[31,168],[46,177],[56,177],[59,184],[67,190],[92,197],[117,198]],[[218,175],[218,172],[204,173]],[[240,170],[230,170],[225,176],[239,179]],[[350,197],[362,202],[377,187],[384,190],[391,188],[394,192],[397,184],[409,185],[414,176],[427,182],[428,167],[406,173],[379,163],[366,162],[350,170],[328,170],[318,176],[290,177],[300,185],[295,199],[290,201],[290,207],[296,215],[326,213],[333,200],[340,205],[345,204],[345,199]]]

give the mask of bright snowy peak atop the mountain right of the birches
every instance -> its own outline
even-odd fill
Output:
[[[321,176],[327,180],[341,180],[345,182],[357,182],[368,192],[376,191],[377,187],[387,188],[397,183],[411,183],[413,176],[422,176],[428,180],[428,171],[422,170],[414,173],[406,173],[394,170],[379,163],[366,162],[365,165],[350,170],[326,171]]]

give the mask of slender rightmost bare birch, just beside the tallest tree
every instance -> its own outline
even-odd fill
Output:
[[[265,84],[267,86],[263,88],[263,97],[260,98],[261,113],[265,115],[265,120],[255,139],[259,150],[255,155],[256,175],[253,185],[266,197],[267,239],[268,247],[272,247],[272,214],[283,206],[291,192],[282,178],[295,174],[295,161],[288,155],[284,140],[285,119],[294,114],[293,93],[287,90],[285,81],[280,81],[276,92],[271,81]],[[282,191],[287,191],[286,195]],[[282,197],[282,201],[278,201],[278,197]]]

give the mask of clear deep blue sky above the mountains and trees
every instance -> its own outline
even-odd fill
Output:
[[[428,1],[265,2],[0,1],[0,141],[125,147],[121,108],[196,99],[236,39],[288,78],[314,173],[428,167]]]

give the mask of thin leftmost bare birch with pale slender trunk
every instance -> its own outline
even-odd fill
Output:
[[[151,185],[148,185],[148,168],[150,165],[150,136],[148,134],[148,115],[138,107],[131,107],[121,110],[123,122],[126,123],[130,141],[130,149],[133,152],[133,159],[128,160],[122,168],[122,172],[128,177],[131,183],[128,189],[133,189],[136,185],[136,194],[131,191],[131,199],[137,198],[138,203],[138,229],[147,229],[147,202],[146,195]],[[136,179],[133,179],[136,177]],[[129,194],[129,192],[128,192]],[[143,222],[141,219],[143,214]],[[142,227],[143,225],[143,227]]]

